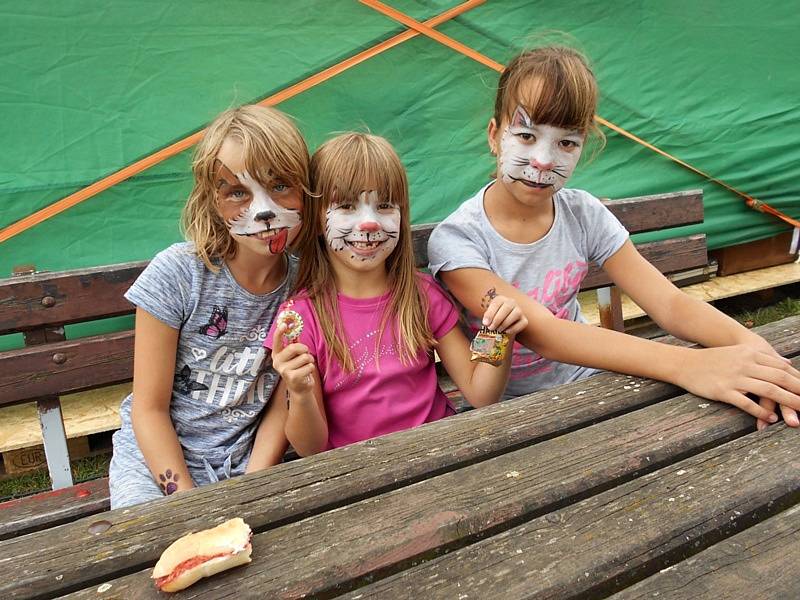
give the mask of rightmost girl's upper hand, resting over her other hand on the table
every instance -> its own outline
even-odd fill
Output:
[[[727,402],[758,419],[774,423],[775,404],[781,405],[786,424],[798,426],[800,410],[800,372],[774,350],[749,344],[691,350],[683,366],[679,385],[693,394]],[[694,354],[697,353],[697,354]],[[761,398],[759,403],[746,394]]]

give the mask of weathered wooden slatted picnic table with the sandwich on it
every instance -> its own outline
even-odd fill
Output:
[[[800,353],[800,317],[760,333]],[[234,516],[253,562],[176,598],[800,598],[800,432],[603,373],[5,540],[0,598],[163,598],[163,549]]]

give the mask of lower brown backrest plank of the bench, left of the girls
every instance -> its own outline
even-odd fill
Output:
[[[130,381],[133,331],[0,354],[0,406]]]

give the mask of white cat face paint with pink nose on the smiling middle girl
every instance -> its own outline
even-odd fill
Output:
[[[337,255],[355,263],[386,260],[400,236],[400,207],[381,200],[375,190],[357,201],[331,204],[325,213],[325,239]]]

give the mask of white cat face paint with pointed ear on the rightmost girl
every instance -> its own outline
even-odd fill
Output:
[[[518,106],[500,138],[503,182],[557,192],[575,170],[585,137],[579,131],[536,124]]]

